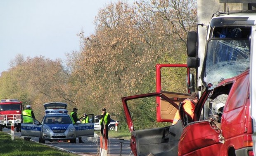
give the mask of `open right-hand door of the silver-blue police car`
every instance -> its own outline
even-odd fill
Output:
[[[87,115],[90,117],[90,115]],[[94,136],[94,123],[93,123],[93,114],[92,116],[92,120],[89,120],[90,123],[86,123],[86,124],[74,124],[75,128],[76,128],[76,137],[90,137],[90,136]]]

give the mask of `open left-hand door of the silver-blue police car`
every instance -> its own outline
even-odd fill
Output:
[[[26,115],[22,115],[22,116],[24,118],[24,116]],[[29,117],[29,116],[26,116],[26,117],[30,118],[31,121],[33,120],[33,122],[21,124],[21,137],[40,138],[42,124],[32,117]]]

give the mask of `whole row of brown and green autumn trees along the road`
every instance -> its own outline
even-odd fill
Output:
[[[81,50],[66,60],[14,58],[1,73],[0,98],[32,105],[38,119],[43,103],[61,101],[80,115],[107,108],[125,124],[121,97],[155,92],[156,64],[186,63],[186,37],[196,29],[196,11],[193,0],[111,3],[96,16],[94,34],[78,34]]]

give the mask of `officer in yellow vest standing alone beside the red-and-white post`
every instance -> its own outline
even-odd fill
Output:
[[[99,117],[100,120],[100,125],[101,125],[101,135],[104,137],[104,135],[106,136],[106,138],[108,138],[109,135],[109,127],[108,125],[110,124],[110,115],[109,113],[106,111],[106,108],[102,108],[102,114]],[[104,124],[105,124],[105,129],[106,129],[106,134],[104,134]]]

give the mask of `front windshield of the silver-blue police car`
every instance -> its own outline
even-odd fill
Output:
[[[45,117],[44,124],[72,124],[69,116]]]

